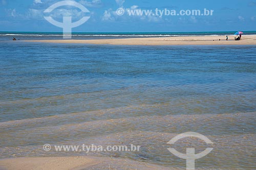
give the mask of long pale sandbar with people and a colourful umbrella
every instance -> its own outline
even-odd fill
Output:
[[[161,38],[124,38],[124,39],[94,39],[94,40],[29,40],[27,42],[46,43],[80,43],[80,44],[112,44],[112,45],[256,45],[256,35],[242,36],[241,41],[235,41],[229,36],[197,36],[197,37],[161,37]],[[221,40],[219,40],[221,39]]]

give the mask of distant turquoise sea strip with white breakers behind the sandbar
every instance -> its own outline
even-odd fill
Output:
[[[182,36],[232,36],[237,31],[229,32],[175,32],[175,33],[72,33],[72,39],[113,39],[143,37],[182,37]],[[244,35],[256,35],[256,31],[244,31]],[[62,39],[62,33],[51,32],[1,32],[0,40],[51,40]]]

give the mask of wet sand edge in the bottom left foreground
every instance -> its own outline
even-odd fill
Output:
[[[0,169],[7,170],[91,170],[91,169],[141,169],[167,170],[163,166],[136,162],[126,159],[111,159],[98,157],[42,157],[42,158],[13,158],[0,160]]]

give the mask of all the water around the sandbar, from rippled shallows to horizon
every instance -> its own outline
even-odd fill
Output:
[[[187,34],[78,33],[73,38]],[[167,149],[186,153],[193,146],[197,153],[213,148],[196,160],[197,169],[256,168],[255,45],[22,41],[57,36],[62,38],[58,33],[0,33],[0,158],[89,155],[185,169],[186,160]],[[200,133],[214,144],[198,139],[167,144],[184,132]],[[52,147],[46,152],[46,143],[134,144],[141,149],[86,153]]]

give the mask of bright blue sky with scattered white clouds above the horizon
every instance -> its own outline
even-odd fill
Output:
[[[74,0],[73,0],[74,1]],[[44,18],[44,10],[58,0],[0,0],[0,31],[62,32]],[[90,11],[90,19],[73,32],[196,32],[255,31],[256,0],[76,0]],[[155,10],[214,10],[212,16],[122,16],[118,8]],[[78,8],[59,7],[51,16],[60,21],[84,14]]]

